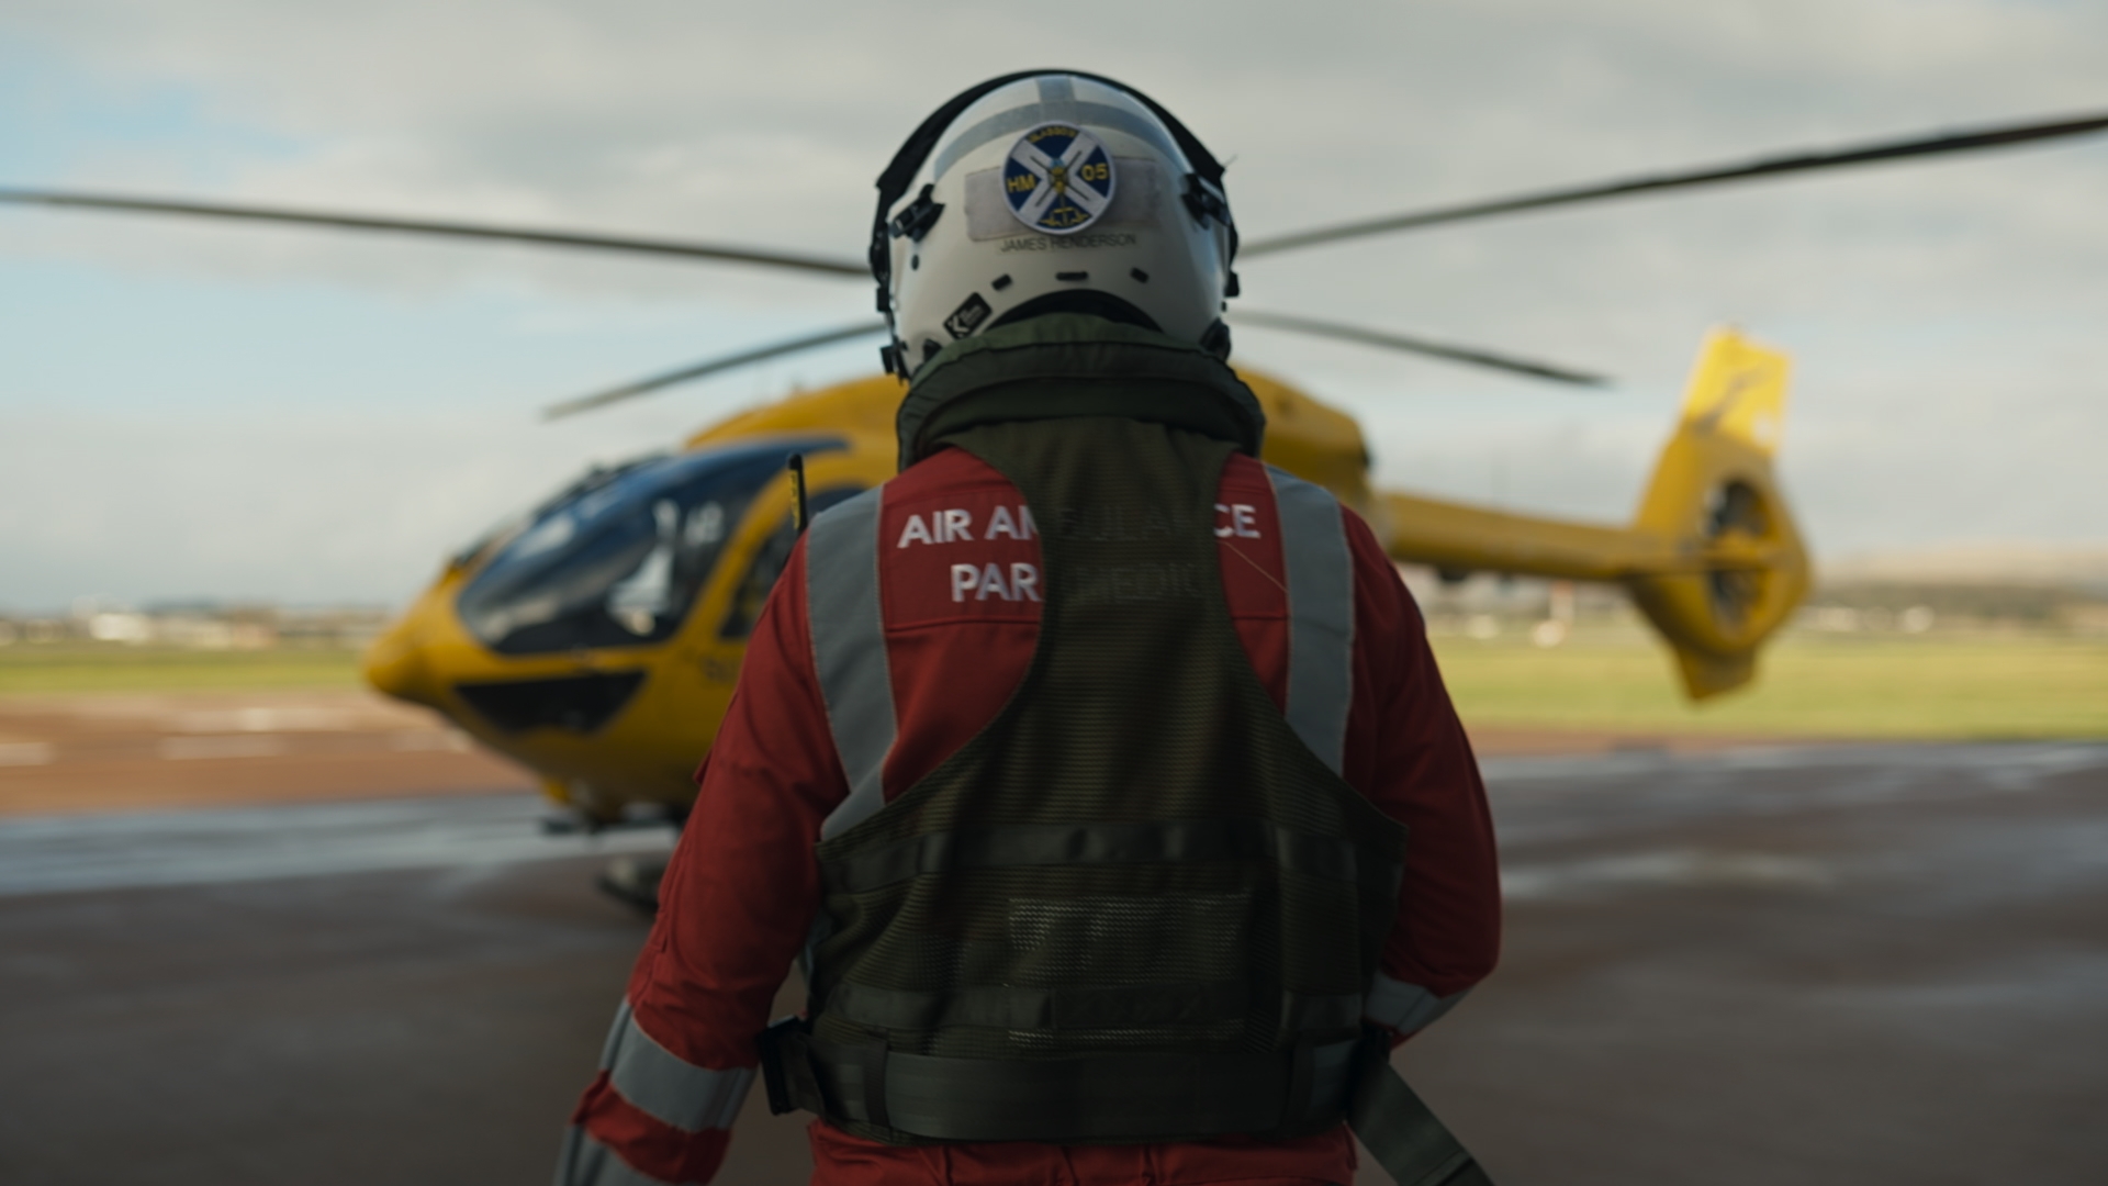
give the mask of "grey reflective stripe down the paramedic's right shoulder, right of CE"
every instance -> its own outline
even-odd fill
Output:
[[[1353,555],[1339,500],[1267,466],[1288,568],[1288,728],[1334,774],[1353,707]]]

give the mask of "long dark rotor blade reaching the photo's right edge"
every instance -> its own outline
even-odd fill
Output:
[[[1246,243],[1240,255],[1267,255],[1273,251],[1294,251],[1299,247],[1315,247],[1320,243],[1339,243],[1341,238],[1362,238],[1368,234],[1389,234],[1393,230],[1414,230],[1421,226],[1438,226],[1444,222],[1465,222],[1473,217],[1490,217],[1499,213],[1516,213],[1543,207],[1562,207],[1570,203],[1592,203],[1598,198],[1621,198],[1625,194],[1646,194],[1653,190],[1676,190],[1686,186],[1714,186],[1720,181],[1741,181],[1750,177],[1775,177],[1781,173],[1804,173],[1809,169],[1838,169],[1844,165],[1870,165],[1876,160],[1899,160],[1904,156],[1935,156],[1941,152],[1973,152],[1979,148],[2000,148],[2007,144],[2026,144],[2030,139],[2055,139],[2066,135],[2089,135],[2097,131],[2108,131],[2108,114],[2093,114],[2081,118],[2066,118],[2057,122],[2043,125],[2013,125],[1969,133],[1950,133],[1922,139],[1897,139],[1885,144],[1872,144],[1866,148],[1840,148],[1834,152],[1800,152],[1792,156],[1767,156],[1748,165],[1726,165],[1699,169],[1693,173],[1659,173],[1653,177],[1632,177],[1625,181],[1606,181],[1598,186],[1577,186],[1570,190],[1543,190],[1537,194],[1520,194],[1514,198],[1495,198],[1486,203],[1467,203],[1457,207],[1433,207],[1425,211],[1408,211],[1389,217],[1372,217],[1364,222],[1345,222],[1339,226],[1320,226],[1315,230],[1303,230],[1296,234],[1280,234],[1275,238],[1261,238]]]

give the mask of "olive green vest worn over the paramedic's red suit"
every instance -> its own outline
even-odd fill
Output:
[[[1039,644],[995,720],[896,802],[873,810],[883,753],[845,745],[864,808],[818,846],[824,937],[795,1095],[894,1144],[1339,1125],[1404,827],[1336,772],[1345,694],[1320,758],[1252,671],[1212,530],[1233,445],[1132,418],[944,441],[1033,509]],[[1294,485],[1341,540],[1339,506]],[[837,614],[875,625],[875,589],[862,604],[850,585],[873,582],[879,496],[814,525],[818,652]],[[871,532],[860,547],[837,542],[850,523]],[[1351,614],[1343,540],[1336,561]],[[1347,692],[1351,627],[1334,625],[1339,654],[1313,667]],[[831,682],[820,658],[837,739],[892,724],[881,682]]]

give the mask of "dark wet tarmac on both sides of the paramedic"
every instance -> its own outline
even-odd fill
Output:
[[[1503,1186],[2108,1182],[2108,745],[1486,768],[1507,954],[1400,1066]],[[0,1182],[546,1182],[664,840],[538,810],[0,821]],[[719,1182],[805,1165],[750,1099]]]

